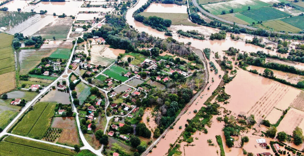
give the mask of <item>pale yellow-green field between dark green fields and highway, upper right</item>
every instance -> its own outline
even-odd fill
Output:
[[[263,23],[263,25],[273,28],[275,31],[278,31],[278,32],[284,30],[286,32],[298,33],[299,31],[301,31],[301,29],[294,27],[288,23],[285,23],[281,20],[265,22],[265,23]]]

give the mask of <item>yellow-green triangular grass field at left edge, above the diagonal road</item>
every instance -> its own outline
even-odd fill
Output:
[[[10,105],[11,99],[0,99],[0,128],[4,129],[7,124],[14,118],[20,107],[16,105]]]

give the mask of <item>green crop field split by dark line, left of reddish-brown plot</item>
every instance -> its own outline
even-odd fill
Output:
[[[55,111],[55,104],[48,102],[37,102],[33,110],[29,111],[12,130],[12,133],[42,138],[50,127],[51,118]]]

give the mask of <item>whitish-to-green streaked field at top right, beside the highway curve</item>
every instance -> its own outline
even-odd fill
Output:
[[[230,9],[233,9],[234,12],[244,11],[248,9],[248,6],[250,6],[251,9],[255,9],[270,6],[270,4],[259,0],[233,0],[203,5],[204,8],[209,10],[214,15],[220,15],[223,10],[225,10],[226,13],[229,13]]]

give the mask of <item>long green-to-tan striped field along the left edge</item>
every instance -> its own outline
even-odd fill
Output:
[[[12,35],[0,33],[0,79],[2,80],[0,82],[0,94],[11,91],[16,87],[16,73],[14,72],[15,57],[12,48],[12,39]]]

